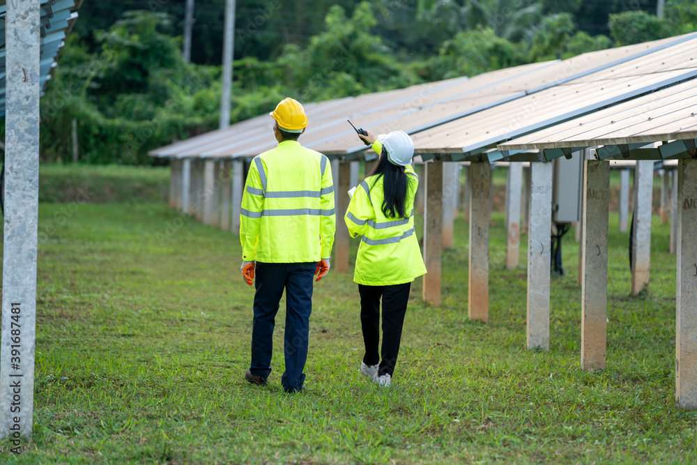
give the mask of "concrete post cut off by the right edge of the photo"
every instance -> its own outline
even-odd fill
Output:
[[[677,171],[675,400],[680,409],[697,409],[697,160],[680,160]]]

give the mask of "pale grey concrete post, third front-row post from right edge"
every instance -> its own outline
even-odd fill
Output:
[[[552,163],[530,164],[528,232],[528,349],[549,349]]]

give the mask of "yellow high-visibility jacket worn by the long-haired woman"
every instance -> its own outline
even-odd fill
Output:
[[[380,153],[382,144],[373,148]],[[388,218],[382,210],[383,176],[369,176],[353,193],[344,216],[351,237],[362,236],[353,281],[368,286],[412,282],[426,273],[414,229],[414,196],[419,178],[411,166],[404,172],[408,188],[404,211],[408,218]]]

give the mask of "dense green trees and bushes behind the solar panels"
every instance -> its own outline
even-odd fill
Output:
[[[197,4],[205,13],[222,3]],[[354,96],[697,29],[689,0],[669,0],[665,18],[647,13],[646,2],[623,13],[620,3],[606,2],[598,8],[613,13],[604,19],[609,37],[579,28],[590,15],[580,0],[563,8],[551,0],[341,3],[238,2],[231,122],[268,112],[286,96]],[[195,64],[209,61],[200,42],[194,64],[183,59],[183,3],[151,0],[150,10],[127,4],[82,7],[41,102],[44,161],[72,159],[73,119],[78,160],[87,163],[162,163],[147,151],[217,128],[221,69]],[[107,11],[123,15],[109,23]],[[220,43],[220,35],[198,40],[204,38]]]

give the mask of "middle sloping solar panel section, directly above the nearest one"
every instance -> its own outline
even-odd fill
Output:
[[[416,152],[443,159],[489,158],[496,144],[697,77],[697,34],[618,66],[599,70],[533,95],[415,135]]]

